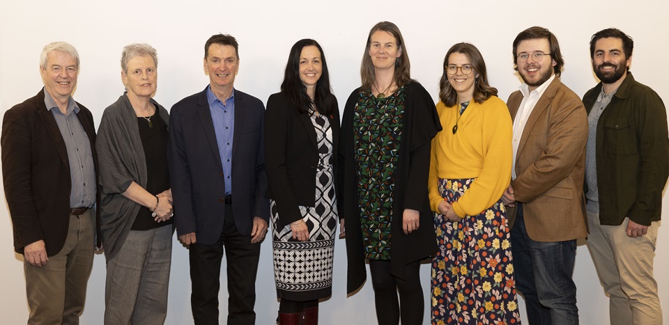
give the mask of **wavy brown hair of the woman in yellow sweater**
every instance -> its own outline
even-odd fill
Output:
[[[488,84],[488,72],[486,71],[486,61],[483,60],[483,56],[479,49],[474,45],[469,43],[458,43],[453,45],[446,53],[444,58],[444,71],[441,75],[441,81],[439,83],[439,99],[446,104],[447,107],[455,106],[458,103],[458,93],[453,89],[453,86],[448,82],[448,73],[446,68],[448,67],[448,57],[451,54],[460,53],[465,54],[469,58],[469,62],[472,64],[474,71],[472,74],[479,74],[474,81],[474,94],[472,99],[474,102],[481,104],[488,100],[491,96],[497,95],[497,89],[491,87]]]

